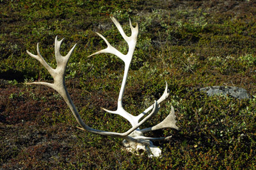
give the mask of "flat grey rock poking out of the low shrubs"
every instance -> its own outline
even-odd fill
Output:
[[[232,86],[209,86],[206,88],[201,88],[200,91],[207,93],[208,96],[227,95],[239,99],[251,98],[246,89]]]

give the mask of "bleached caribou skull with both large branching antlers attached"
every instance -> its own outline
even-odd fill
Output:
[[[124,107],[122,106],[122,99],[124,96],[124,89],[125,89],[125,84],[127,81],[129,66],[131,64],[132,55],[134,53],[134,49],[135,49],[136,42],[137,42],[138,23],[136,23],[136,26],[133,27],[131,24],[131,20],[130,20],[130,27],[131,27],[132,34],[131,34],[131,36],[127,36],[127,35],[125,35],[124,30],[122,29],[122,26],[120,25],[120,23],[113,17],[111,17],[111,20],[113,20],[115,26],[118,28],[118,31],[120,32],[120,34],[122,35],[124,40],[128,43],[129,50],[128,50],[127,54],[122,54],[120,51],[116,50],[115,47],[110,45],[110,43],[108,42],[108,40],[106,40],[106,38],[104,38],[104,36],[100,35],[100,33],[97,33],[97,35],[99,35],[106,42],[108,47],[106,49],[95,52],[90,56],[93,56],[95,54],[100,54],[100,53],[110,53],[110,54],[114,54],[118,58],[122,59],[122,61],[124,61],[124,63],[125,63],[124,78],[122,81],[122,86],[121,86],[119,97],[118,97],[117,109],[116,109],[116,111],[109,111],[107,109],[104,109],[104,111],[107,111],[107,112],[110,112],[113,114],[119,114],[120,116],[122,116],[126,120],[128,120],[132,126],[129,130],[127,130],[124,133],[108,132],[108,131],[97,130],[97,129],[88,127],[88,125],[86,125],[84,123],[84,121],[81,119],[81,116],[79,115],[72,99],[70,98],[70,95],[65,86],[65,70],[67,68],[68,59],[70,58],[76,45],[74,45],[74,47],[72,47],[72,49],[68,52],[67,56],[61,56],[60,46],[61,46],[61,43],[63,42],[63,39],[58,41],[58,36],[56,36],[55,44],[54,44],[55,57],[56,57],[56,61],[57,61],[56,68],[52,68],[51,66],[49,66],[46,63],[46,61],[40,54],[38,43],[37,43],[37,48],[36,48],[37,55],[32,54],[31,52],[29,52],[27,50],[29,56],[37,59],[48,70],[48,72],[53,77],[54,82],[53,83],[29,82],[26,84],[40,84],[40,85],[48,86],[52,89],[55,89],[58,93],[60,93],[61,97],[63,97],[63,99],[67,103],[68,107],[72,111],[72,114],[76,118],[77,123],[81,126],[81,127],[77,127],[77,128],[79,128],[81,130],[88,131],[88,132],[92,132],[94,134],[121,137],[124,139],[123,143],[124,143],[124,146],[127,147],[127,150],[136,150],[137,153],[141,153],[141,150],[143,150],[143,151],[147,151],[148,156],[150,156],[150,157],[152,157],[152,156],[158,157],[161,155],[161,149],[154,146],[154,144],[152,144],[151,141],[166,140],[166,139],[170,139],[170,137],[172,137],[172,136],[145,137],[143,135],[143,132],[149,132],[151,130],[157,130],[160,128],[175,128],[178,130],[179,128],[175,125],[176,120],[175,120],[175,112],[174,112],[173,107],[172,107],[172,111],[170,112],[170,114],[161,123],[157,124],[156,126],[150,127],[150,128],[143,128],[143,129],[140,129],[139,127],[143,123],[145,123],[145,121],[150,119],[152,116],[154,116],[154,114],[156,114],[159,111],[159,104],[161,102],[163,102],[163,100],[165,100],[169,96],[168,84],[166,82],[166,88],[165,88],[164,93],[161,96],[161,98],[159,98],[157,101],[155,101],[154,104],[150,105],[150,107],[145,109],[145,111],[141,112],[141,114],[138,114],[138,116],[134,116],[134,115],[130,114],[129,112],[125,111]],[[88,56],[88,57],[90,57],[90,56]],[[148,114],[148,112],[150,110],[152,110],[152,111],[150,112],[150,114]],[[147,115],[147,116],[145,116],[145,115]],[[143,118],[143,116],[145,116],[145,118]],[[140,121],[141,118],[143,118],[143,120]]]

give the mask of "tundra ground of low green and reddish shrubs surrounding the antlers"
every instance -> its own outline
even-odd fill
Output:
[[[87,58],[106,44],[127,45],[109,19],[129,34],[138,22],[124,107],[138,114],[161,96],[170,97],[146,126],[175,107],[179,131],[157,142],[161,158],[122,150],[122,140],[82,132],[54,90],[24,82],[52,81],[26,54],[55,66],[54,38],[65,38],[64,55],[77,43],[67,68],[67,87],[83,120],[102,130],[124,132],[114,110],[124,63],[115,56]],[[253,1],[0,1],[0,169],[256,169],[256,3]],[[251,100],[207,97],[198,88],[237,86]]]

